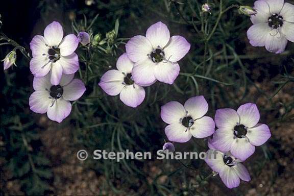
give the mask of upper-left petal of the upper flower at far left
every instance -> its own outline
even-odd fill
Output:
[[[30,43],[33,57],[48,54],[49,47],[47,47],[46,44],[48,44],[48,42],[43,36],[34,36]]]

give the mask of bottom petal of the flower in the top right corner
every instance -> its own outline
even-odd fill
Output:
[[[288,40],[281,33],[273,29],[271,33],[266,36],[265,48],[271,53],[280,54],[285,51]]]

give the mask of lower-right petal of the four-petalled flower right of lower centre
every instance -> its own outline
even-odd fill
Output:
[[[205,138],[214,133],[214,121],[211,117],[203,116],[194,121],[190,133],[196,138]]]

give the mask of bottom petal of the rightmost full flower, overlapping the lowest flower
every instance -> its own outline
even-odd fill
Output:
[[[255,146],[248,142],[246,138],[234,139],[231,147],[231,153],[234,157],[244,161],[255,151]]]

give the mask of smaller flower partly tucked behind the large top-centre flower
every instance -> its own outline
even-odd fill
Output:
[[[99,86],[109,95],[119,94],[119,99],[130,107],[139,106],[145,98],[145,90],[133,81],[134,63],[127,54],[122,54],[116,62],[116,69],[107,71],[101,78]]]

